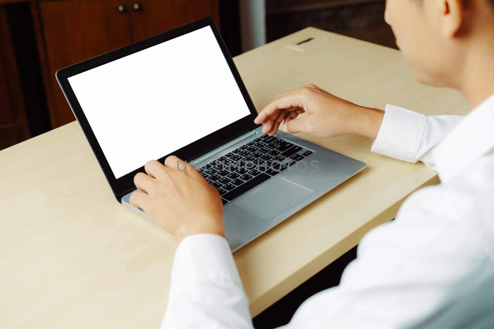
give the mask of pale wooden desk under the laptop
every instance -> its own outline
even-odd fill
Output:
[[[398,51],[313,28],[235,62],[258,110],[314,83],[369,107],[467,112],[457,92],[414,82]],[[438,182],[420,163],[371,153],[364,137],[302,137],[368,168],[234,254],[252,316]],[[76,122],[0,151],[0,208],[1,328],[159,327],[176,243],[116,202]]]

